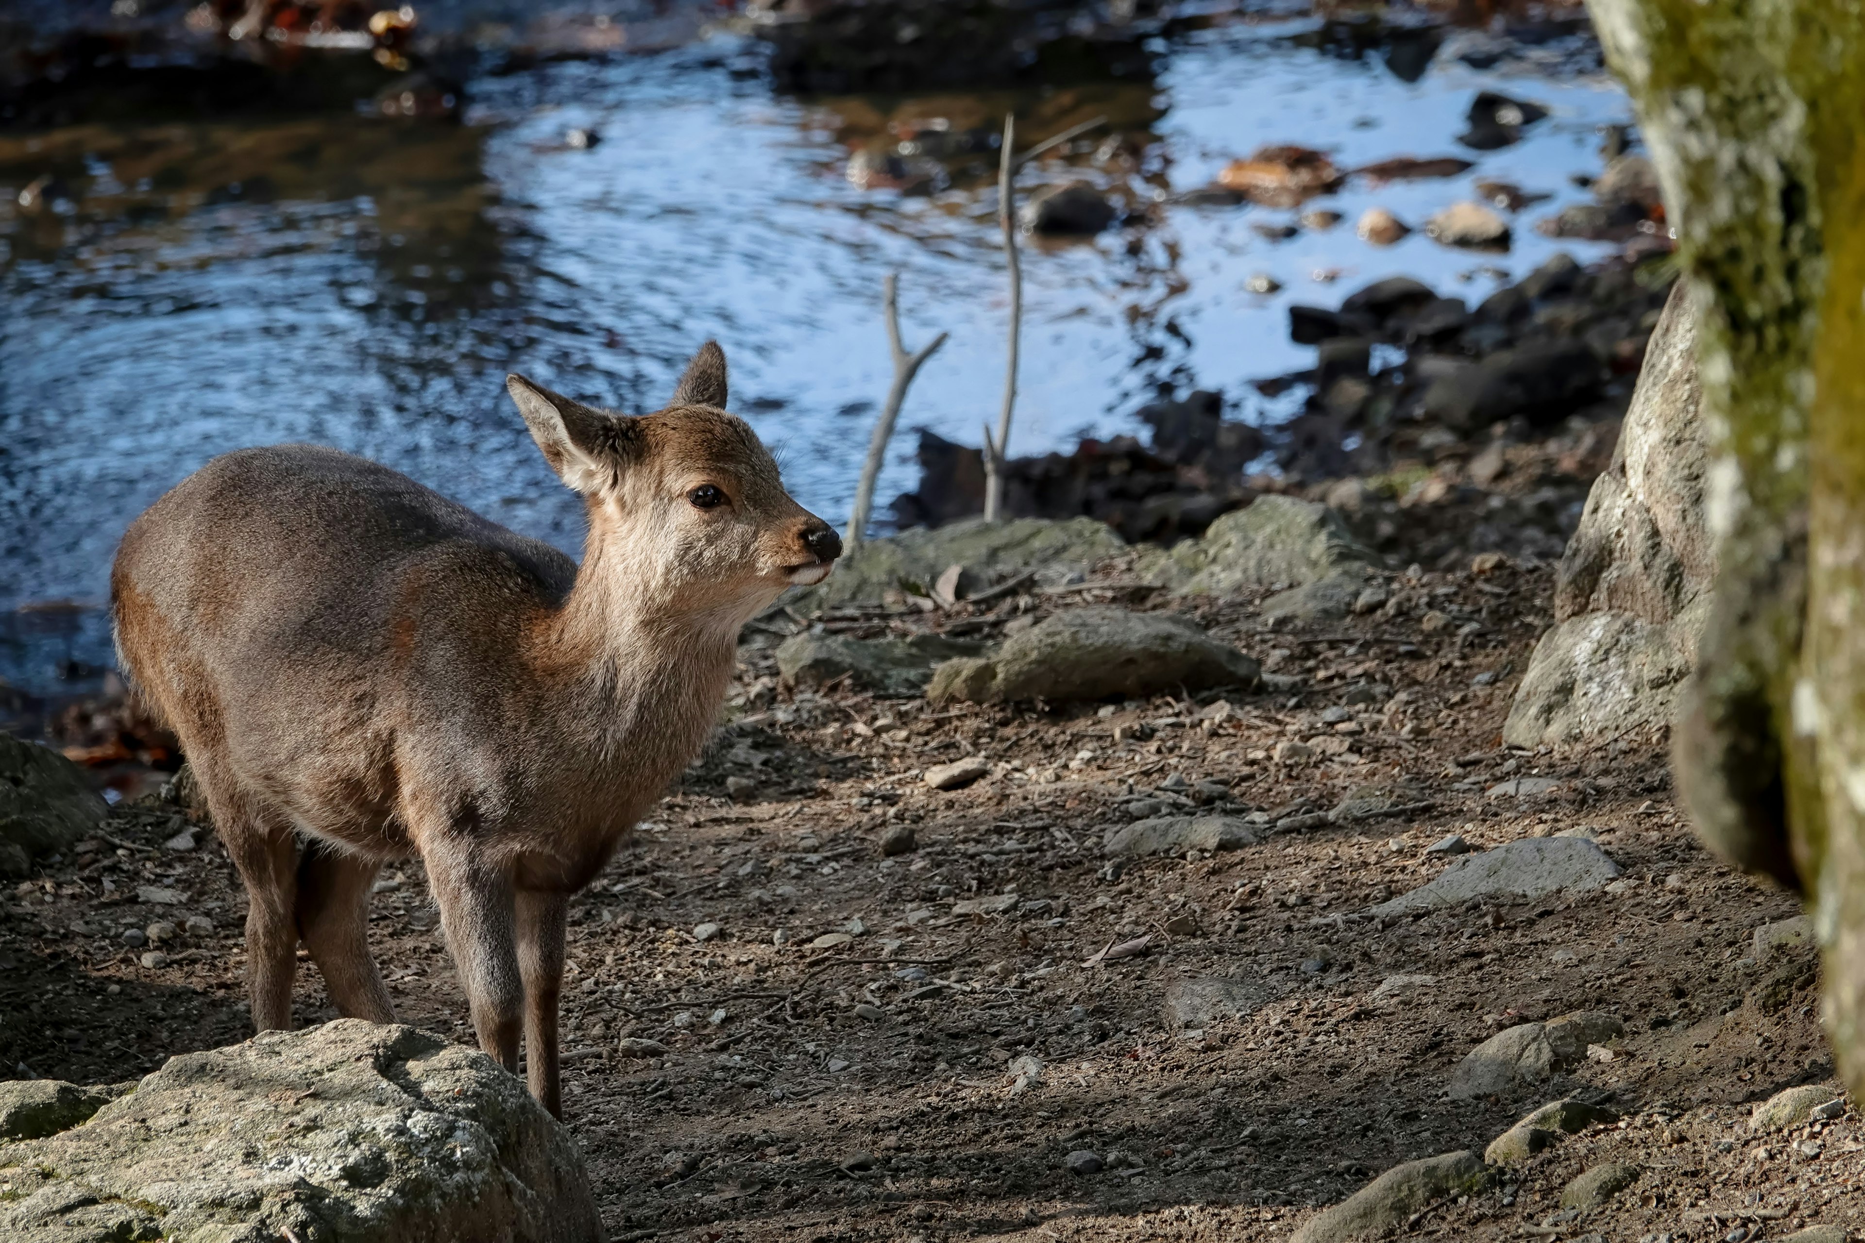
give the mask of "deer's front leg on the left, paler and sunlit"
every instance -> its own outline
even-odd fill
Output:
[[[470,848],[433,852],[427,880],[440,904],[440,926],[459,967],[479,1047],[518,1073],[518,977],[511,876]]]

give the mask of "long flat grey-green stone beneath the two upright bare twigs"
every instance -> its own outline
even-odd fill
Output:
[[[817,587],[783,596],[783,604],[808,613],[850,602],[878,602],[888,591],[932,589],[949,567],[962,565],[979,581],[998,583],[1026,570],[1067,576],[1095,568],[1104,557],[1126,550],[1113,527],[1093,518],[1050,522],[968,518],[936,529],[914,527],[884,539],[863,540],[836,563],[836,572]]]

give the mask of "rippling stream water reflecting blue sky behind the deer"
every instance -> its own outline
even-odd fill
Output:
[[[890,121],[996,125],[1016,108],[1041,138],[1104,114],[1136,157],[1084,151],[1024,175],[1026,190],[1087,175],[1151,207],[1147,224],[1026,255],[1015,453],[1132,430],[1162,388],[1220,388],[1238,417],[1270,419],[1244,380],[1311,362],[1287,339],[1289,302],[1332,306],[1391,274],[1485,296],[1557,248],[1529,222],[1583,198],[1570,177],[1598,171],[1596,127],[1630,117],[1604,76],[1440,60],[1404,82],[1376,56],[1306,47],[1313,28],[1209,30],[1166,47],[1151,84],[1043,95],[793,101],[720,37],[481,80],[463,127],[339,116],[0,138],[0,678],[48,690],[60,662],[104,663],[95,606],[123,526],[239,445],[332,444],[574,550],[580,512],[509,408],[513,369],[651,410],[718,337],[735,406],[796,496],[839,524],[888,386],[890,270],[908,341],[951,334],[908,397],[880,494],[910,488],[906,429],[975,444],[994,416],[1005,294],[988,170],[959,166],[929,198],[843,177],[849,145]],[[1268,142],[1343,168],[1457,155],[1485,88],[1554,116],[1514,147],[1462,151],[1479,162],[1457,179],[1348,183],[1311,203],[1345,212],[1332,231],[1270,242],[1251,225],[1294,212],[1154,201]],[[569,147],[573,127],[601,142]],[[11,207],[47,171],[69,199]],[[1421,224],[1481,177],[1555,196],[1516,222],[1507,255],[1352,235],[1369,205]],[[1255,272],[1285,291],[1246,293]],[[75,608],[21,609],[47,602]]]

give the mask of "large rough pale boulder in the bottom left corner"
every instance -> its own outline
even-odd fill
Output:
[[[524,1083],[412,1027],[338,1019],[170,1059],[13,1167],[0,1237],[601,1239],[574,1141]]]

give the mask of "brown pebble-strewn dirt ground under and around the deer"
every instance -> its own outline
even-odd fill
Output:
[[[1865,1224],[1856,1114],[1787,1135],[1748,1126],[1751,1101],[1833,1073],[1811,952],[1751,949],[1796,902],[1695,844],[1664,738],[1499,747],[1552,580],[1533,561],[1395,574],[1386,609],[1313,628],[1205,602],[1199,621],[1276,676],[1197,701],[934,710],[787,693],[770,649],[748,645],[735,723],[573,909],[567,1122],[612,1237],[1276,1239],[1395,1163],[1481,1152],[1587,1088],[1624,1120],[1416,1215],[1402,1237]],[[1145,593],[1011,600],[968,628],[1093,600],[1143,608]],[[1212,712],[1218,699],[1231,708]],[[1313,758],[1278,762],[1287,740]],[[990,775],[949,792],[919,779],[966,755]],[[1555,785],[1494,792],[1514,777]],[[1322,814],[1367,785],[1406,811]],[[1261,840],[1121,867],[1100,842],[1138,796],[1253,816]],[[901,824],[918,846],[884,857]],[[186,827],[172,805],[127,801],[108,833],[0,902],[13,1073],[121,1081],[248,1034],[244,898],[211,835],[164,844]],[[1593,835],[1624,878],[1535,904],[1361,913],[1445,867],[1425,848],[1451,833],[1488,848],[1563,831]],[[138,895],[149,887],[168,893]],[[987,913],[955,909],[992,896]],[[213,928],[123,939],[188,917]],[[1085,965],[1145,934],[1145,952]],[[468,1040],[414,868],[384,872],[373,936],[399,1016]],[[334,1018],[306,967],[300,1021]],[[1199,980],[1227,986],[1188,988]],[[1186,1016],[1212,990],[1218,1014]],[[1572,1010],[1624,1023],[1611,1060],[1513,1100],[1447,1096],[1477,1044]],[[660,1051],[623,1057],[627,1040]],[[1078,1150],[1104,1168],[1071,1172]],[[1563,1185],[1609,1159],[1639,1182],[1563,1209]]]

